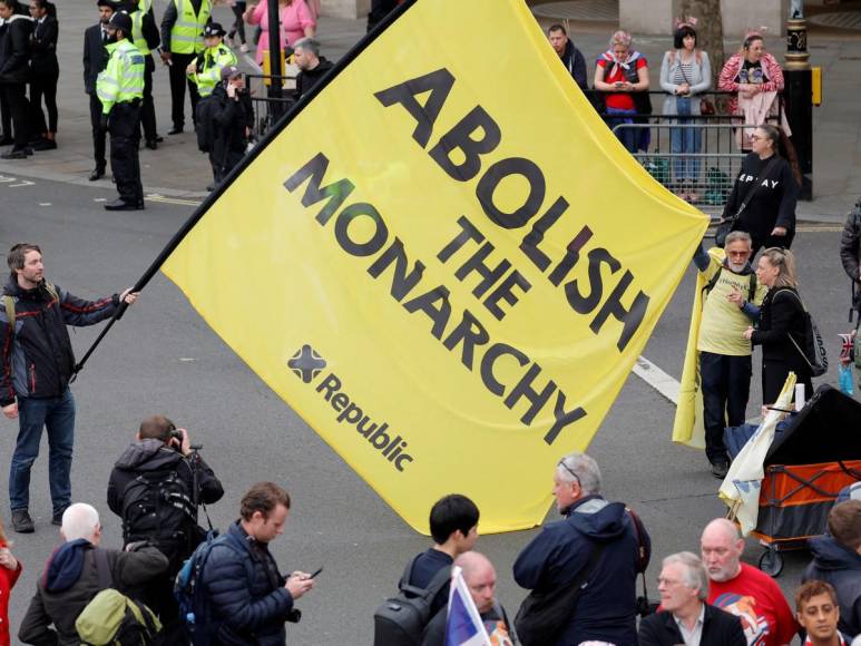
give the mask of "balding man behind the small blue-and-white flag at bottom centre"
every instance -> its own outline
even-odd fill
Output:
[[[451,583],[448,608],[430,620],[422,646],[515,644],[513,627],[496,599],[497,571],[485,555],[477,551],[460,555],[454,560]],[[463,614],[461,610],[469,606]]]

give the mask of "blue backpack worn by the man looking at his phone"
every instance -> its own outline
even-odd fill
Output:
[[[212,644],[217,628],[212,621],[208,598],[200,583],[209,554],[216,545],[226,545],[234,550],[239,549],[236,546],[236,539],[229,534],[218,536],[218,530],[209,530],[206,532],[206,539],[185,560],[174,580],[174,598],[179,606],[179,617],[185,623],[186,634],[194,646]],[[253,567],[248,559],[243,561],[246,571]],[[253,572],[248,574],[253,576]]]

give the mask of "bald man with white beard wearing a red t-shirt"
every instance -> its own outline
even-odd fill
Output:
[[[725,518],[717,518],[699,539],[708,570],[708,603],[742,620],[747,644],[784,646],[799,629],[777,584],[766,574],[741,561],[744,539]]]

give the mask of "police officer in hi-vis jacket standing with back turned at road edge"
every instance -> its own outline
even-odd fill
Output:
[[[119,11],[107,25],[108,65],[96,81],[101,101],[101,128],[110,133],[110,169],[117,180],[119,198],[108,202],[108,211],[140,211],[144,187],[137,146],[140,140],[140,102],[144,96],[144,57],[127,37],[131,18]]]

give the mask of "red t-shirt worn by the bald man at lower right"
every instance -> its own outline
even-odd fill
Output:
[[[708,603],[741,617],[749,646],[782,646],[799,630],[777,584],[746,564],[734,579],[708,583]]]

